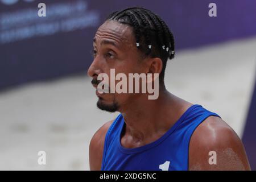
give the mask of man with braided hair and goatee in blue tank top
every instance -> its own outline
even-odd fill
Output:
[[[174,37],[158,15],[137,7],[110,14],[93,39],[93,55],[88,75],[97,88],[97,106],[121,114],[94,134],[91,170],[250,169],[240,138],[216,113],[166,90],[164,70],[174,58]],[[158,73],[158,98],[100,92],[98,77],[111,76],[110,69],[126,76]]]

